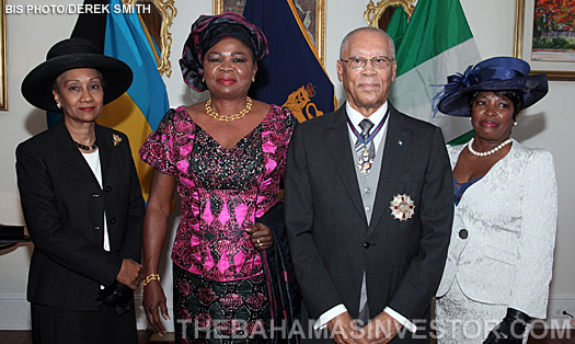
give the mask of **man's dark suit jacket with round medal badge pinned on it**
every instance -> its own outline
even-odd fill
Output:
[[[422,325],[428,312],[449,245],[451,169],[439,128],[391,104],[388,121],[369,227],[345,106],[294,133],[285,176],[286,222],[308,311],[302,311],[303,321],[340,303],[357,318],[364,271],[370,318],[390,307]],[[415,203],[415,214],[406,221],[390,210],[390,202],[402,194]]]

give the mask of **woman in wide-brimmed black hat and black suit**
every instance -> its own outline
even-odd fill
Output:
[[[95,123],[131,83],[124,62],[85,39],[57,43],[22,83],[62,113],[19,145],[16,174],[35,249],[27,299],[34,343],[137,343],[143,199],[128,138]]]

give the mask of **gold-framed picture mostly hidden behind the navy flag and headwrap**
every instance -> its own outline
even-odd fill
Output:
[[[325,1],[326,0],[292,0],[301,23],[308,31],[318,57],[323,61],[325,54]],[[214,14],[234,12],[243,14],[245,0],[214,0]]]

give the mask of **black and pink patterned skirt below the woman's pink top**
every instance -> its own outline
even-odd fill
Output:
[[[175,343],[268,343],[269,301],[263,274],[218,282],[173,264]]]

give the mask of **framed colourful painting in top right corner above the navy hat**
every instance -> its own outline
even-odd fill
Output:
[[[571,0],[516,0],[514,56],[531,73],[575,81],[575,7]]]

